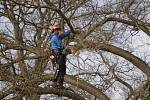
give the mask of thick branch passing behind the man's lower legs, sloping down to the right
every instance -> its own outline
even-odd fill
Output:
[[[52,78],[53,78],[53,75],[46,74],[46,75],[40,76],[38,79],[36,79],[36,81],[31,81],[31,82],[33,82],[32,84],[36,84],[36,83],[40,84],[46,80],[52,80]],[[78,80],[78,83],[77,83],[77,80]],[[65,75],[65,82],[73,86],[77,86],[78,88],[87,91],[88,93],[96,96],[99,99],[109,100],[108,96],[105,95],[100,89],[87,83],[86,81],[77,79],[76,77],[73,77],[71,75]]]

